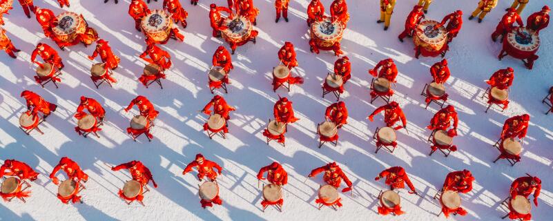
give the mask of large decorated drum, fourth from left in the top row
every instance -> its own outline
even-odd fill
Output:
[[[344,23],[331,22],[330,17],[325,17],[322,21],[316,21],[311,25],[311,39],[315,39],[317,46],[329,48],[342,41],[344,30]]]

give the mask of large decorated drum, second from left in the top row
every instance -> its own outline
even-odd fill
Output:
[[[142,18],[140,27],[146,37],[153,41],[166,41],[173,28],[171,15],[164,10],[152,10],[148,15]]]

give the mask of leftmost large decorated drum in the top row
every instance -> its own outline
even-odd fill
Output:
[[[77,35],[86,31],[86,22],[74,12],[61,12],[57,17],[57,26],[52,28],[54,35],[61,41],[72,42]]]

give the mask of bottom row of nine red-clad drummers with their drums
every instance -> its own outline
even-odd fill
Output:
[[[120,198],[127,204],[137,201],[144,206],[144,194],[149,191],[146,186],[148,182],[152,181],[153,186],[157,188],[151,171],[142,162],[133,160],[119,164],[118,166],[109,164],[106,164],[106,166],[110,167],[112,171],[128,169],[130,172],[132,180],[126,181],[123,188],[119,189]],[[213,206],[213,204],[222,204],[217,184],[217,177],[222,175],[222,166],[216,162],[206,160],[199,153],[196,155],[195,160],[186,166],[182,174],[186,175],[186,173],[193,171],[193,169],[197,169],[197,178],[202,182],[202,184],[198,185],[198,195],[202,207],[206,208],[206,206]],[[56,175],[59,170],[66,172],[67,180],[59,182]],[[265,173],[266,177],[264,177]],[[342,206],[338,191],[342,180],[347,185],[346,188],[342,189],[342,193],[351,191],[351,195],[353,195],[353,184],[336,162],[313,169],[307,175],[307,179],[304,182],[307,182],[311,177],[316,177],[320,173],[323,173],[322,179],[325,183],[320,185],[318,198],[315,200],[318,209],[321,209],[322,206],[329,206],[337,210],[338,207]],[[1,184],[1,197],[8,202],[14,198],[26,202],[26,198],[30,197],[30,183],[37,180],[38,175],[39,173],[24,162],[5,160],[0,168],[0,177],[7,176]],[[68,202],[83,203],[79,193],[86,189],[84,183],[88,181],[88,175],[81,170],[77,162],[68,157],[62,157],[59,164],[50,173],[49,178],[54,184],[58,185],[57,197],[61,202],[66,204]],[[263,182],[262,186],[262,210],[264,211],[268,206],[275,206],[276,209],[282,211],[282,205],[284,204],[283,186],[288,182],[288,173],[284,170],[284,167],[278,162],[273,162],[262,167],[257,178],[260,182],[262,180],[267,180],[268,182]],[[204,179],[206,180],[204,181]],[[408,193],[418,195],[405,169],[401,166],[390,167],[380,172],[374,180],[378,181],[380,179],[385,179],[385,184],[389,186],[389,190],[381,190],[378,194],[378,200],[380,201],[378,213],[382,215],[390,213],[401,215],[405,213],[401,210],[399,190],[404,189],[405,184],[407,184],[407,187],[410,189]],[[450,213],[454,215],[466,215],[467,211],[461,207],[460,194],[472,191],[472,182],[474,180],[475,178],[472,176],[472,173],[467,170],[454,171],[447,174],[442,188],[434,195],[434,199],[439,198],[442,207],[438,216],[441,213],[444,213],[446,217],[449,217]],[[258,188],[260,182],[258,182]],[[518,177],[511,184],[509,197],[501,202],[501,205],[505,206],[505,209],[508,211],[505,217],[530,220],[532,205],[528,198],[534,193],[534,204],[538,206],[540,191],[541,180],[539,177],[528,174],[524,177]],[[423,195],[420,195],[420,197],[423,197]]]

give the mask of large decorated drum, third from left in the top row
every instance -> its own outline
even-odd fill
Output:
[[[246,17],[238,16],[235,19],[224,19],[223,26],[226,26],[225,30],[221,31],[222,37],[227,42],[240,43],[247,41],[251,35],[251,21]]]

